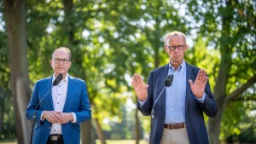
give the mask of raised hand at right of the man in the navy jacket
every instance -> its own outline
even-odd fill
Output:
[[[207,72],[203,69],[198,72],[194,84],[192,80],[189,79],[190,89],[197,98],[201,98],[204,95],[207,80]]]

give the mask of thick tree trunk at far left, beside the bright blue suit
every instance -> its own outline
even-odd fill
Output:
[[[27,66],[25,0],[4,0],[4,18],[7,26],[11,90],[14,96],[15,122],[19,144],[30,140],[31,125],[26,120],[26,106],[30,99]]]

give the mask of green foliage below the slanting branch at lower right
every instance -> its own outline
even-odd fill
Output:
[[[228,142],[255,142],[255,112],[255,101],[236,101],[231,103],[224,112],[221,139]]]

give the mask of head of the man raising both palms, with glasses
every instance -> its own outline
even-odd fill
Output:
[[[165,50],[172,63],[181,64],[187,49],[188,45],[185,44],[185,41],[181,35],[172,35],[168,37]]]

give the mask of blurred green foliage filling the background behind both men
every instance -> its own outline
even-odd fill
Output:
[[[4,107],[4,124],[15,134],[13,117],[7,114],[13,110],[2,1],[0,8],[0,87],[3,89],[0,99],[8,103]],[[88,85],[93,117],[99,118],[100,122],[104,118],[116,120],[110,126],[103,124],[103,128],[119,132],[118,126],[125,125],[122,135],[112,136],[131,138],[133,116],[127,117],[125,111],[119,110],[126,101],[133,100],[137,104],[131,88],[133,73],[142,74],[146,82],[151,70],[168,62],[163,48],[167,32],[184,32],[193,42],[185,60],[207,70],[212,88],[215,87],[218,70],[222,68],[219,67],[221,60],[230,60],[227,66],[230,69],[229,79],[225,85],[226,95],[229,95],[255,75],[255,17],[252,0],[75,0],[73,5],[65,5],[61,0],[26,0],[29,76],[33,84],[52,75],[49,60],[53,50],[69,47],[73,63],[69,73],[84,79]],[[247,90],[242,101],[255,98],[254,94],[251,89]],[[230,104],[224,112],[223,139],[229,135],[246,134],[247,127],[239,126],[241,123],[253,124],[253,117],[245,116],[254,108],[245,107],[245,103]],[[128,118],[131,118],[129,123],[125,121]],[[148,133],[150,118],[142,115],[139,118],[143,122],[143,130]],[[234,125],[236,128],[232,129]],[[251,125],[250,130],[253,128]],[[15,136],[9,132],[4,134]]]

